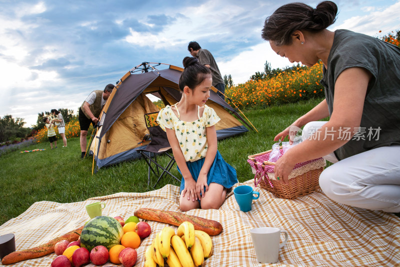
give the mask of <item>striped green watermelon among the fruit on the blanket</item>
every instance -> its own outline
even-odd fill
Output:
[[[84,225],[80,234],[80,246],[91,251],[93,247],[103,245],[109,250],[119,244],[122,235],[119,221],[108,216],[97,216]]]

